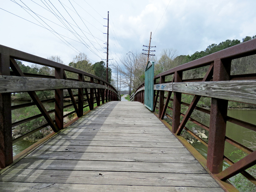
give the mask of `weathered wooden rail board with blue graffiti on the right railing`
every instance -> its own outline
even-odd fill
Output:
[[[183,92],[256,104],[256,80],[164,83],[154,85],[154,90]]]

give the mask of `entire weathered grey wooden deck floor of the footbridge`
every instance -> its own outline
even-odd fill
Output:
[[[0,191],[223,191],[139,102],[96,108],[0,181]]]

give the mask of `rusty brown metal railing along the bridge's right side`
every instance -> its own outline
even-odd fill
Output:
[[[256,74],[230,74],[232,60],[254,54],[256,54],[256,39],[172,68],[154,78],[154,111],[157,109],[159,119],[164,119],[164,116],[171,119],[170,130],[189,151],[193,151],[193,147],[180,137],[182,131],[191,134],[208,148],[207,159],[195,157],[209,173],[214,175],[215,179],[221,182],[241,173],[256,185],[255,177],[245,171],[256,164],[256,151],[226,136],[227,121],[256,131],[255,124],[227,115],[228,101],[256,105]],[[184,72],[201,67],[208,68],[203,78],[182,78]],[[165,81],[171,77],[172,81]],[[172,93],[173,96],[171,96]],[[194,95],[191,103],[182,102],[183,94]],[[211,110],[197,106],[201,97],[211,98]],[[134,98],[135,101],[144,103],[144,84],[137,88]],[[181,113],[182,106],[188,107],[185,114]],[[171,111],[172,115],[167,113],[167,110]],[[209,126],[191,118],[194,110],[210,115]],[[208,132],[208,142],[185,127],[188,121]],[[233,162],[224,155],[225,142],[233,145],[237,150],[242,150],[247,155],[236,163]],[[224,170],[223,160],[230,165]],[[228,187],[226,186],[226,188]]]

